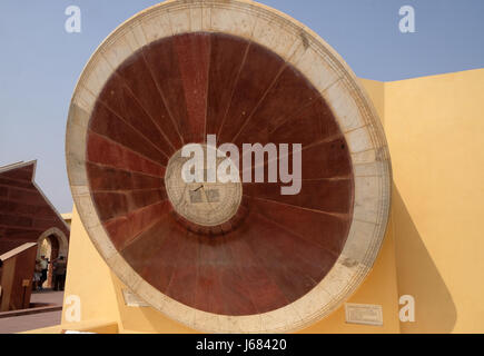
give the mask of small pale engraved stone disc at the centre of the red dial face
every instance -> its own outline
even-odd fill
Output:
[[[207,157],[207,147],[199,147],[204,149],[204,157]],[[198,165],[190,165],[196,158],[184,157],[181,150],[170,158],[165,175],[168,199],[175,211],[191,222],[201,226],[221,225],[234,217],[240,206],[241,184],[223,182],[216,174],[220,164],[230,158],[214,157],[215,165],[203,158]],[[196,177],[198,179],[189,179]]]

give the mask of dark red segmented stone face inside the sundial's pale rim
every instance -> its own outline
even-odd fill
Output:
[[[169,160],[207,135],[240,152],[300,144],[300,191],[281,195],[286,184],[265,179],[174,198]],[[168,37],[126,59],[97,97],[86,170],[108,237],[134,270],[214,314],[261,314],[306,295],[340,255],[353,216],[349,151],[322,95],[269,49],[229,34]]]

